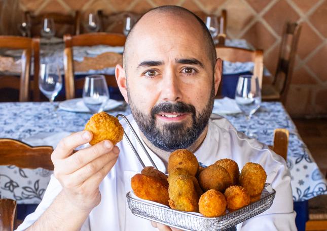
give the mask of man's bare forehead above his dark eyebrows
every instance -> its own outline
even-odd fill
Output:
[[[133,57],[150,58],[169,53],[175,55],[173,58],[194,58],[205,52],[205,45],[200,24],[194,17],[152,13],[137,23],[128,49]]]

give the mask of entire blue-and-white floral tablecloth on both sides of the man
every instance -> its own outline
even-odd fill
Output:
[[[57,141],[64,135],[83,130],[90,118],[87,113],[57,110],[57,118],[49,118],[53,107],[49,103],[0,103],[0,137],[22,141],[58,134]],[[127,105],[110,111],[113,115],[130,114]],[[238,130],[246,129],[242,114],[225,115]],[[250,120],[250,129],[259,140],[267,145],[273,142],[275,128],[289,130],[287,166],[292,174],[294,201],[305,201],[319,194],[327,194],[327,183],[317,164],[303,143],[298,131],[277,102],[263,102]],[[61,136],[61,137],[60,137]],[[51,138],[52,139],[52,138]],[[53,138],[55,139],[55,138]],[[41,145],[41,144],[40,144]],[[0,195],[16,199],[19,204],[37,204],[41,201],[51,171],[20,169],[14,166],[0,167]]]

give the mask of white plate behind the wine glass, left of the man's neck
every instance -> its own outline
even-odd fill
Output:
[[[115,101],[110,98],[104,106],[104,111],[112,110],[123,104],[124,102],[122,101]],[[59,109],[68,112],[90,112],[90,110],[83,103],[83,98],[72,98],[71,100],[60,102]]]

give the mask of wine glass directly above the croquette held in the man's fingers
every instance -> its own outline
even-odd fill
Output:
[[[103,75],[85,77],[83,102],[92,114],[103,111],[108,98],[108,86]]]

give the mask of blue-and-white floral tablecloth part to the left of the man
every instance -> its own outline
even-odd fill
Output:
[[[40,133],[72,133],[83,130],[91,117],[88,113],[57,110],[58,117],[49,118],[52,110],[54,107],[49,103],[1,103],[0,137],[22,141]],[[125,104],[108,113],[130,114],[130,109]],[[15,199],[18,204],[39,204],[51,174],[52,171],[41,168],[31,170],[0,166],[0,198]]]

